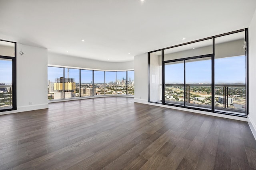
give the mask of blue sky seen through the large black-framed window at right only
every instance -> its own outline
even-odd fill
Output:
[[[215,83],[245,83],[245,56],[215,59]],[[211,60],[186,62],[186,83],[211,83]],[[184,64],[165,66],[165,82],[183,83]]]

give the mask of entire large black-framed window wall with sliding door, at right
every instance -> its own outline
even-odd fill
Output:
[[[246,116],[246,30],[149,52],[148,102]]]

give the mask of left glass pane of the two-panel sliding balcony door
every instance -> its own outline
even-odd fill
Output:
[[[164,102],[184,106],[184,61],[164,64]]]

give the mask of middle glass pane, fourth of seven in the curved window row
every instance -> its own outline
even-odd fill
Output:
[[[105,95],[104,71],[94,71],[94,94]]]

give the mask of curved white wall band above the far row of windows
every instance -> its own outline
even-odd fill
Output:
[[[105,62],[69,55],[48,53],[49,66],[61,66],[69,68],[86,68],[93,70],[133,70],[134,61],[128,62]]]

